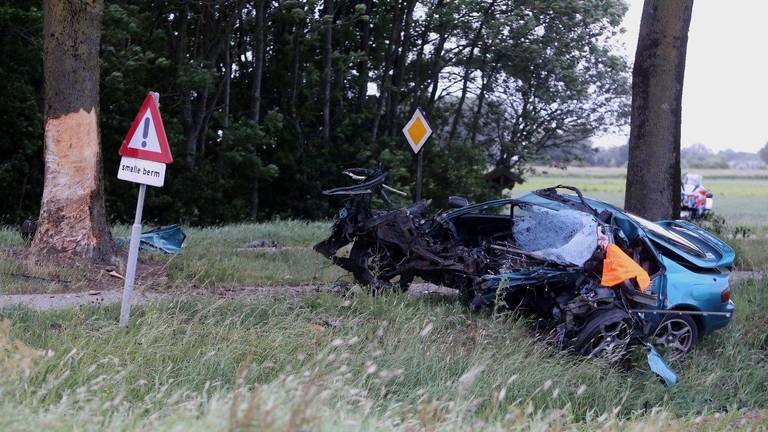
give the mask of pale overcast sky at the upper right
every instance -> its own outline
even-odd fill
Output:
[[[643,0],[628,0],[620,49],[635,58]],[[768,1],[695,0],[683,84],[682,146],[756,152],[768,142]],[[627,142],[626,133],[594,139]]]

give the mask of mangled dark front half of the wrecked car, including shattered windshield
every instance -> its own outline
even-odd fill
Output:
[[[345,206],[331,236],[315,246],[359,283],[405,290],[419,278],[454,288],[473,308],[525,312],[548,341],[612,362],[651,331],[631,311],[655,305],[655,295],[642,292],[634,280],[601,285],[600,242],[625,240],[614,239],[617,227],[609,212],[598,214],[583,199],[569,201],[567,209],[510,199],[478,207],[456,199],[454,210],[428,218],[425,201],[391,211],[372,209],[383,178],[366,180],[326,192],[344,196]],[[555,189],[538,193],[559,199]],[[350,243],[348,256],[338,254]],[[642,261],[630,244],[621,246]]]

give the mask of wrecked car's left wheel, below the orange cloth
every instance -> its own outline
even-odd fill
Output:
[[[634,322],[619,308],[593,312],[572,340],[570,347],[578,354],[616,365],[630,352]]]

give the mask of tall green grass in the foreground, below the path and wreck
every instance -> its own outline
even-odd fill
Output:
[[[136,308],[127,331],[116,306],[6,309],[0,430],[686,430],[726,411],[767,427],[766,288],[734,287],[735,322],[675,366],[671,388],[446,300],[190,299]]]

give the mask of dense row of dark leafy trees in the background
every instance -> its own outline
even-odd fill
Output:
[[[490,168],[515,179],[533,157],[578,152],[627,116],[628,69],[612,54],[620,0],[95,3],[113,221],[133,211],[135,188],[115,179],[117,148],[148,90],[161,94],[176,163],[145,214],[196,224],[326,217],[319,192],[349,166],[381,162],[410,187],[400,129],[416,107],[436,131],[425,196],[438,201],[498,193]],[[38,213],[44,82],[65,78],[43,80],[44,15],[34,2],[0,6],[0,79],[12,95],[0,104],[0,182],[17,185],[0,202],[6,222]]]

